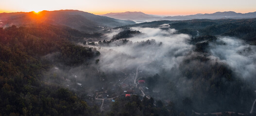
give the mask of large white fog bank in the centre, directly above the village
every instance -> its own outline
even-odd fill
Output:
[[[102,46],[101,69],[131,69],[145,62],[158,62],[163,67],[173,67],[182,61],[183,57],[191,50],[188,44],[190,36],[187,34],[175,34],[175,29],[159,28],[132,28],[143,34],[129,38],[132,43],[115,46]],[[146,70],[146,69],[145,69]],[[149,68],[157,73],[159,69]],[[154,70],[154,71],[153,71]]]

